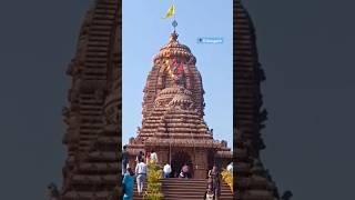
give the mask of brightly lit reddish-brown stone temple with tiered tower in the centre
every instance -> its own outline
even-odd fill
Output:
[[[204,179],[214,163],[226,166],[232,152],[226,141],[213,139],[203,119],[204,90],[196,58],[178,37],[173,31],[153,59],[143,90],[142,127],[128,144],[130,166],[140,151],[154,150],[159,164],[171,163],[173,174],[186,163],[193,178]]]

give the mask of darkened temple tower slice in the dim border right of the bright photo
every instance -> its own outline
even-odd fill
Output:
[[[263,109],[260,83],[265,79],[257,60],[254,27],[240,0],[234,3],[234,124],[236,126],[236,199],[280,199],[275,183],[264,169],[260,151],[265,148],[261,130],[267,112]]]

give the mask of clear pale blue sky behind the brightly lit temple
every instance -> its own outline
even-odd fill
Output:
[[[143,88],[152,58],[169,40],[172,20],[162,20],[168,0],[123,0],[122,142],[141,127]],[[205,90],[205,121],[214,139],[233,147],[233,10],[232,0],[175,0],[181,43],[196,57]],[[197,38],[223,38],[223,43],[197,43]]]

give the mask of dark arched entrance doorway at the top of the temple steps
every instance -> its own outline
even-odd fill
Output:
[[[189,166],[189,170],[190,170],[189,178],[192,178],[193,177],[193,163],[192,163],[190,154],[184,151],[175,152],[172,156],[172,159],[171,159],[172,173],[171,173],[171,176],[173,178],[178,178],[179,173],[181,172],[181,168],[185,163]]]

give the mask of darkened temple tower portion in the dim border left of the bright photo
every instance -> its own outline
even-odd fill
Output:
[[[119,12],[118,0],[94,1],[67,71],[72,86],[63,109],[68,157],[61,200],[108,200],[121,182]]]

